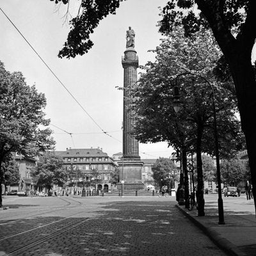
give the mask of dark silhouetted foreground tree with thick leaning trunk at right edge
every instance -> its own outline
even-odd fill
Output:
[[[194,3],[200,12],[193,12]],[[222,64],[220,69],[227,63],[235,84],[256,203],[256,131],[253,118],[256,115],[256,80],[251,60],[256,38],[255,11],[256,2],[253,0],[172,0],[163,8],[160,31],[172,31],[180,20],[187,36],[198,31],[200,26],[212,29],[223,52],[218,63]]]

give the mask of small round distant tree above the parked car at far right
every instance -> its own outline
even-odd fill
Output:
[[[246,161],[239,157],[223,159],[220,164],[223,181],[231,186],[237,186],[239,182],[245,181],[248,178],[246,165]]]

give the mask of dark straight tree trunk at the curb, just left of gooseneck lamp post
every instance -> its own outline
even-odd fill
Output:
[[[197,171],[197,191],[196,200],[198,204],[198,216],[205,216],[204,212],[204,175],[203,175],[203,163],[202,163],[202,134],[203,130],[200,125],[197,127],[197,138],[196,138],[196,171]]]

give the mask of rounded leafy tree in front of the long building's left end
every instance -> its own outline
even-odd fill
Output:
[[[54,152],[45,152],[40,156],[38,165],[31,170],[33,178],[38,188],[51,190],[53,184],[63,186],[67,182],[67,172],[63,168],[63,159],[56,156]]]

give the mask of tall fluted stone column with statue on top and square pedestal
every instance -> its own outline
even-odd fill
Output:
[[[139,142],[132,136],[132,125],[134,118],[130,113],[129,100],[127,99],[127,88],[137,82],[137,68],[139,61],[137,52],[134,49],[134,31],[129,28],[127,31],[127,45],[122,58],[124,68],[124,109],[123,109],[123,157],[118,162],[120,166],[120,180],[124,180],[125,190],[139,190],[144,188],[141,181],[143,162],[139,155]],[[122,184],[118,184],[121,189]]]

